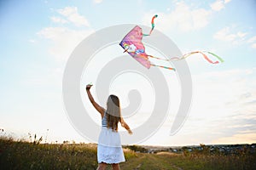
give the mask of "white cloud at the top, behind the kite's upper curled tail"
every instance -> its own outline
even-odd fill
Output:
[[[209,23],[210,10],[205,8],[191,8],[186,3],[176,3],[176,7],[171,13],[157,13],[160,20],[157,20],[158,28],[160,30],[181,30],[191,31],[199,30]],[[154,14],[145,14],[143,16],[143,23],[148,25],[148,18]]]

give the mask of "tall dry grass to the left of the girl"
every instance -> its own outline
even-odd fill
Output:
[[[95,144],[34,144],[0,139],[0,169],[96,169]]]

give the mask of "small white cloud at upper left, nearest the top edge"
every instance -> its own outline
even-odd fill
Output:
[[[89,21],[78,13],[77,7],[65,7],[58,9],[57,12],[72,22],[75,26],[90,26]]]

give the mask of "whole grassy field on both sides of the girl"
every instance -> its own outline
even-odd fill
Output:
[[[255,154],[135,153],[124,149],[121,169],[256,169]],[[96,169],[96,144],[39,144],[0,139],[0,169]],[[108,167],[108,169],[111,169]]]

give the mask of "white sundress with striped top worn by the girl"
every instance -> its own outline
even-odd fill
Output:
[[[98,163],[119,163],[125,161],[119,132],[107,127],[106,113],[102,118],[102,132],[98,139],[97,147]]]

